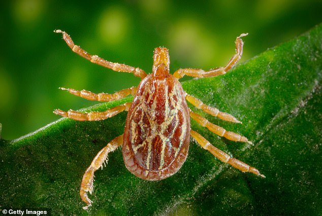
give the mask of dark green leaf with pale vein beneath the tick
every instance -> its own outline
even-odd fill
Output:
[[[187,93],[243,124],[192,110],[248,137],[254,146],[218,137],[194,121],[191,127],[266,178],[242,173],[191,141],[178,173],[148,182],[126,170],[118,149],[107,167],[95,172],[89,196],[94,203],[85,211],[79,197],[82,175],[93,157],[122,134],[126,113],[99,122],[63,118],[21,138],[0,140],[0,208],[49,208],[68,215],[321,215],[321,71],[319,25],[226,75],[182,83]]]

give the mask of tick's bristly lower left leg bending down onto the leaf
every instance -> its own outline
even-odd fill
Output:
[[[98,170],[100,167],[103,169],[103,163],[105,164],[105,161],[107,161],[107,155],[110,152],[113,152],[117,149],[117,147],[121,146],[123,143],[123,135],[120,135],[114,139],[112,139],[106,147],[104,147],[93,159],[90,166],[86,169],[83,179],[81,188],[79,191],[80,197],[82,200],[87,204],[87,206],[83,207],[84,209],[87,209],[89,206],[91,206],[92,201],[88,198],[87,192],[92,194],[94,186],[93,186],[93,178],[94,178],[94,172]]]

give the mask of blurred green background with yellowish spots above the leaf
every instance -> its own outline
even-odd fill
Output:
[[[242,32],[242,61],[322,21],[317,0],[257,1],[43,1],[0,3],[0,123],[5,139],[58,119],[52,111],[77,110],[95,101],[58,87],[113,93],[140,79],[94,65],[74,54],[61,34],[110,61],[150,73],[155,47],[169,48],[171,71],[227,63]]]

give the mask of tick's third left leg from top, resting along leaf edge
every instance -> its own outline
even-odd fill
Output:
[[[67,112],[62,110],[54,110],[53,113],[63,117],[74,119],[77,121],[100,121],[107,118],[111,118],[122,111],[128,111],[130,106],[131,106],[131,102],[127,102],[122,105],[112,107],[111,109],[104,112],[80,113],[73,110],[69,110]]]

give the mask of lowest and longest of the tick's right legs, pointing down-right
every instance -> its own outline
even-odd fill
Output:
[[[261,177],[265,177],[265,175],[261,174],[260,171],[257,170],[256,168],[249,166],[248,164],[240,160],[232,158],[228,154],[221,151],[220,149],[217,149],[216,147],[212,146],[207,139],[205,139],[202,135],[200,135],[196,131],[190,130],[190,135],[196,139],[196,141],[200,144],[202,148],[204,148],[205,150],[208,150],[211,154],[213,154],[216,158],[218,158],[222,162],[228,163],[243,172],[252,172],[256,175],[260,175]]]

